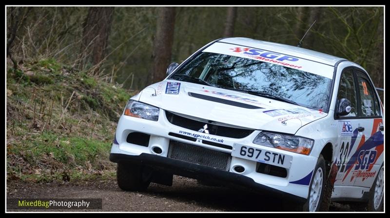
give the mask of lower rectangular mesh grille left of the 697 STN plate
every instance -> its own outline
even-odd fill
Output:
[[[229,171],[232,160],[232,156],[229,153],[174,140],[171,140],[169,143],[168,158],[196,163],[224,171]]]

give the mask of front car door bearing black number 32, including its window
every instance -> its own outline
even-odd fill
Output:
[[[336,108],[334,110],[334,122],[338,130],[337,144],[335,145],[334,163],[338,167],[334,185],[353,185],[354,180],[348,177],[352,169],[351,156],[353,151],[362,143],[363,132],[358,131],[362,125],[358,112],[357,83],[353,68],[346,68],[340,76],[337,90]],[[348,99],[351,102],[351,111],[348,115],[341,116],[337,113],[338,102]]]

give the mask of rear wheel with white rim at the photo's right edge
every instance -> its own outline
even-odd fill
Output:
[[[374,183],[370,189],[370,198],[367,203],[367,210],[378,212],[383,211],[383,193],[384,193],[384,167],[383,164],[376,175]]]

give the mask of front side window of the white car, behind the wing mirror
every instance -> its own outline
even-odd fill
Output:
[[[351,101],[351,112],[343,117],[356,117],[357,116],[357,99],[355,79],[353,77],[352,70],[346,70],[341,74],[340,85],[338,87],[337,101],[339,99],[348,99]]]

